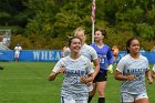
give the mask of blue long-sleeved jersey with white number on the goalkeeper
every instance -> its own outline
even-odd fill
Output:
[[[95,43],[91,44],[91,47],[94,48],[97,53],[100,61],[100,72],[102,73],[102,70],[107,70],[106,61],[108,64],[113,64],[113,54],[111,52],[111,48],[106,44],[104,44],[103,48],[99,48]]]

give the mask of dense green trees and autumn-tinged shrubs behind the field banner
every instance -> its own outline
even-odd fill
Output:
[[[105,29],[105,43],[125,49],[138,38],[149,50],[155,44],[155,0],[95,0],[95,28]],[[92,35],[92,0],[0,0],[0,29],[11,29],[10,49],[62,49],[74,29]]]

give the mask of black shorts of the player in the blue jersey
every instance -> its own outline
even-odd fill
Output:
[[[97,73],[93,83],[103,82],[103,81],[106,81],[106,79],[107,79],[107,70],[103,70],[102,73],[101,72]]]

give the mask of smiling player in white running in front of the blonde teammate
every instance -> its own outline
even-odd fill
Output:
[[[87,82],[93,81],[91,61],[80,54],[81,40],[76,37],[69,40],[71,54],[62,58],[49,76],[53,81],[59,73],[64,74],[61,89],[61,103],[87,103]]]

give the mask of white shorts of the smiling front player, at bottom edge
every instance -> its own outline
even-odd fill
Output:
[[[87,100],[73,100],[73,99],[64,99],[61,97],[61,103],[87,103]]]

